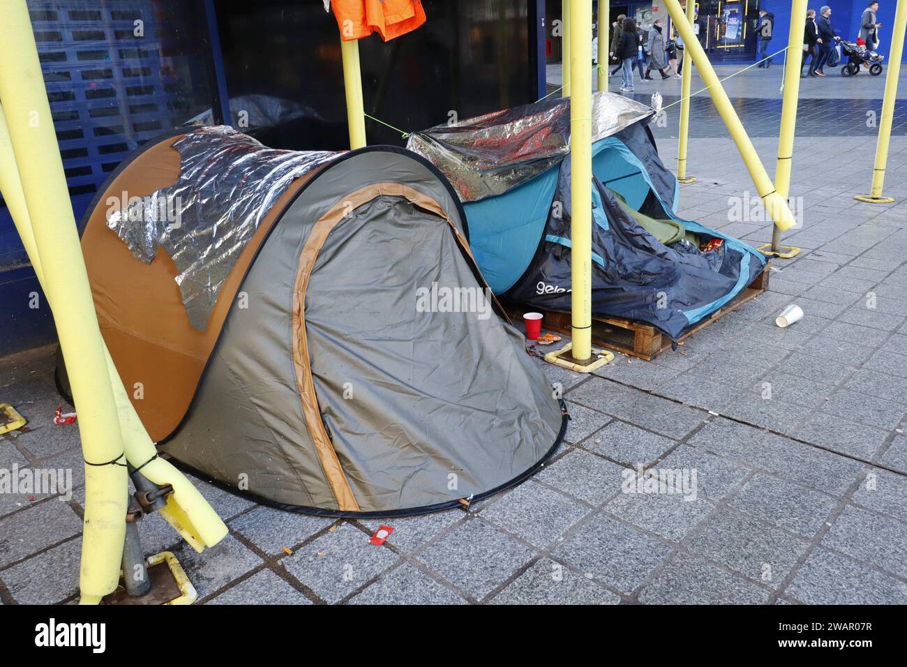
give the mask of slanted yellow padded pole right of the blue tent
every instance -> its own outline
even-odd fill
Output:
[[[737,151],[740,152],[740,157],[743,158],[743,162],[746,164],[746,170],[756,186],[759,197],[762,198],[766,212],[781,231],[789,230],[795,223],[794,215],[788,208],[785,198],[775,191],[775,185],[768,178],[766,168],[759,160],[756,148],[746,134],[743,123],[740,123],[740,119],[734,111],[734,106],[727,98],[727,93],[721,86],[721,82],[718,81],[718,76],[715,74],[712,64],[708,62],[708,57],[702,49],[702,44],[699,44],[696,35],[693,34],[693,26],[689,25],[678,0],[665,0],[665,6],[668,7],[668,14],[671,15],[671,20],[677,26],[678,33],[683,39],[684,51],[689,52],[693,63],[696,64],[697,72],[702,77],[703,82],[706,83],[718,114],[727,125],[727,131],[730,132],[731,138],[736,143]]]

